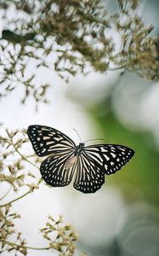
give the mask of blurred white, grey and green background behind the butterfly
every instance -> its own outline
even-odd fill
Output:
[[[116,8],[112,1],[109,7]],[[140,9],[145,24],[155,26],[156,35],[158,9],[158,0],[153,4],[143,1]],[[136,154],[116,175],[105,177],[105,184],[93,195],[80,193],[72,184],[51,189],[43,183],[32,195],[14,203],[14,211],[21,214],[16,228],[30,246],[43,247],[46,243],[38,230],[48,214],[58,218],[62,213],[65,223],[71,223],[80,236],[77,255],[158,256],[159,84],[133,73],[121,76],[117,71],[78,75],[65,84],[56,73],[44,68],[37,74],[38,80],[53,84],[48,95],[50,104],[39,106],[36,112],[31,99],[21,106],[22,92],[14,90],[0,102],[5,127],[49,125],[79,143],[75,128],[82,141],[102,137],[106,143],[133,148]],[[33,153],[31,145],[27,150]],[[31,168],[31,172],[40,177],[37,170]],[[9,197],[13,198],[12,193]],[[29,251],[28,255],[53,253]]]

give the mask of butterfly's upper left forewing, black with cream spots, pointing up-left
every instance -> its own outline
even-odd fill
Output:
[[[38,156],[68,152],[76,147],[70,137],[48,126],[30,125],[27,134]]]

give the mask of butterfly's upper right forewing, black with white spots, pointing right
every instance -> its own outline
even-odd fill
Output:
[[[116,144],[91,145],[83,148],[83,151],[108,175],[120,170],[134,154],[133,149]]]

